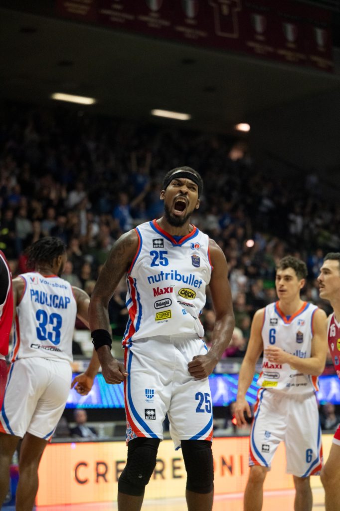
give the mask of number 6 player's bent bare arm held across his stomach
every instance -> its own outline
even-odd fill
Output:
[[[327,350],[327,317],[325,311],[317,309],[313,316],[310,358],[299,358],[275,346],[266,348],[264,353],[270,362],[289,364],[304,375],[320,376],[325,368]]]

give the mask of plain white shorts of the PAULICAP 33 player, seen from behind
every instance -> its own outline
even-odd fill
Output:
[[[69,362],[39,357],[12,363],[0,413],[0,431],[20,436],[26,432],[50,440],[63,413],[70,390]]]

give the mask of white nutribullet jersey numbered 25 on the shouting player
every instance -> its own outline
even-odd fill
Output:
[[[203,337],[199,315],[210,282],[209,238],[193,226],[180,239],[156,220],[136,227],[138,249],[127,275],[129,320],[123,346],[145,337]]]

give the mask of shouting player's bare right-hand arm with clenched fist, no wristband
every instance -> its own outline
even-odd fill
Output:
[[[209,240],[209,250],[213,266],[209,287],[216,320],[210,351],[207,355],[193,357],[188,363],[190,375],[198,379],[207,378],[212,373],[230,343],[235,324],[225,255],[213,240]]]

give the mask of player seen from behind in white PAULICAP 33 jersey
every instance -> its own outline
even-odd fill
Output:
[[[42,238],[28,253],[35,272],[13,280],[15,333],[0,413],[0,504],[8,491],[12,455],[23,438],[16,511],[34,506],[39,461],[69,394],[76,315],[88,324],[89,305],[85,291],[58,276],[66,262],[59,238]]]

